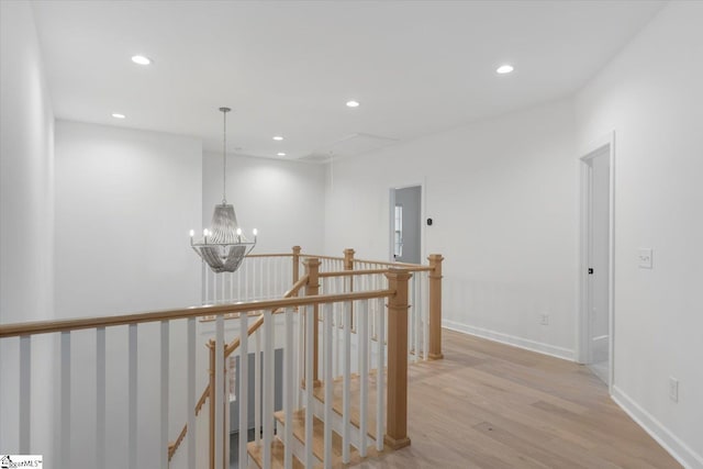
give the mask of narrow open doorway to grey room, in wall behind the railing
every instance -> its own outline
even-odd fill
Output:
[[[390,258],[397,263],[420,264],[422,187],[393,188],[390,202]]]

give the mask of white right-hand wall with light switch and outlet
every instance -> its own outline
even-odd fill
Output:
[[[615,131],[614,395],[689,467],[703,467],[702,24],[703,3],[669,4],[576,99],[580,147]]]

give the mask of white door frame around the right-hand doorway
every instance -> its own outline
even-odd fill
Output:
[[[609,171],[609,243],[607,243],[607,316],[609,316],[609,338],[607,338],[607,388],[613,392],[615,381],[615,132],[598,138],[581,152],[579,152],[579,172],[581,179],[581,230],[580,230],[580,259],[579,259],[579,321],[578,345],[579,362],[587,364],[590,355],[590,302],[589,302],[589,260],[590,260],[590,224],[591,224],[591,180],[589,174],[589,160],[607,149],[610,171]]]

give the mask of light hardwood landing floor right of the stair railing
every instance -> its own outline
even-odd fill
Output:
[[[361,468],[680,468],[588,368],[444,331],[410,366],[410,447]]]

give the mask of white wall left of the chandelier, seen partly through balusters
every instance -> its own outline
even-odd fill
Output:
[[[56,315],[98,316],[200,302],[188,231],[202,219],[198,139],[58,121]],[[138,462],[158,466],[159,332],[138,327]],[[186,422],[185,324],[170,330],[169,438]],[[108,331],[108,467],[124,467],[126,327]],[[71,455],[94,458],[94,333],[71,334]],[[203,383],[204,386],[204,383]],[[200,386],[198,386],[200,388]],[[200,392],[200,389],[198,390]]]

